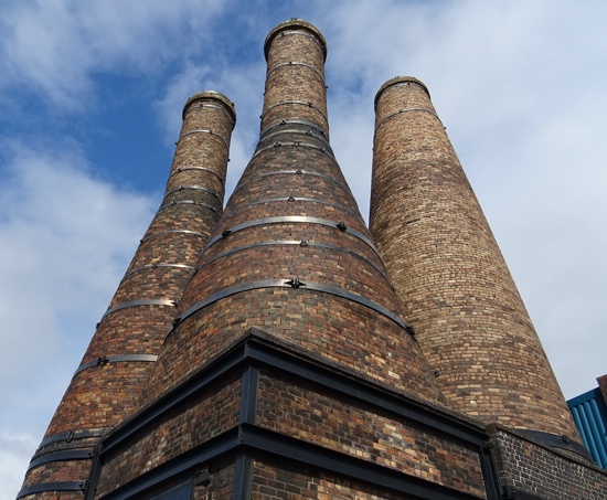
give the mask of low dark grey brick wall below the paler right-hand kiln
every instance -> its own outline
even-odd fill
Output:
[[[510,496],[542,500],[606,500],[607,470],[558,454],[505,428],[492,433],[500,483]],[[534,498],[534,497],[528,497]]]

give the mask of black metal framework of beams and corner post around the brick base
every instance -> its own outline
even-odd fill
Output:
[[[257,386],[259,370],[267,368],[284,372],[300,380],[327,387],[341,397],[355,400],[364,405],[382,412],[387,412],[397,418],[415,422],[423,428],[450,436],[462,444],[472,447],[479,454],[482,476],[486,481],[487,499],[499,500],[494,470],[490,458],[488,436],[480,425],[472,425],[458,419],[437,406],[416,402],[394,393],[387,387],[363,380],[360,375],[348,374],[341,369],[307,358],[301,352],[291,350],[288,345],[275,343],[273,339],[264,338],[263,331],[251,329],[244,337],[224,354],[209,362],[180,385],[157,400],[143,412],[136,414],[125,424],[115,428],[103,442],[102,460],[125,445],[143,429],[161,419],[169,412],[183,405],[194,394],[207,390],[212,384],[225,380],[228,373],[241,373],[242,394],[239,423],[223,434],[184,454],[141,475],[117,490],[103,497],[104,500],[128,499],[163,481],[191,471],[192,477],[210,460],[219,457],[259,458],[287,461],[303,468],[326,470],[338,476],[345,476],[360,481],[388,488],[413,498],[432,498],[435,500],[472,500],[476,494],[455,490],[452,488],[426,481],[396,469],[391,469],[359,457],[331,450],[322,446],[306,443],[280,433],[265,429],[256,425]],[[251,466],[251,460],[241,466]],[[487,470],[489,467],[491,470]],[[235,477],[235,491],[247,491],[247,471],[242,470]],[[251,474],[251,470],[248,470]],[[236,475],[235,475],[236,476]],[[249,481],[249,479],[248,479]],[[94,489],[95,485],[92,486]],[[247,498],[245,497],[242,497]]]

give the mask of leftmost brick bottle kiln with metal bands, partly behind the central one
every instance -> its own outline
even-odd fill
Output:
[[[137,408],[198,254],[222,213],[235,113],[202,92],[183,108],[164,199],[36,450],[20,496],[82,499],[102,436]]]

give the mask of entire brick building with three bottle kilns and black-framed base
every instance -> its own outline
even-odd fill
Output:
[[[23,499],[605,499],[498,245],[412,77],[375,98],[369,227],[321,33],[267,36],[257,148],[185,103],[167,191]]]

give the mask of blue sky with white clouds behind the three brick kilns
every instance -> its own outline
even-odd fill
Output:
[[[324,34],[331,142],[369,212],[373,97],[427,84],[567,397],[607,372],[607,3],[21,0],[0,6],[0,500],[158,208],[188,96],[258,136],[263,42]]]

